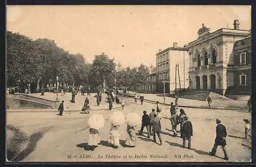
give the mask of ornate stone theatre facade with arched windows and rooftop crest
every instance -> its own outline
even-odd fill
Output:
[[[205,27],[198,30],[198,39],[189,42],[189,89],[210,90],[225,94],[232,85],[228,73],[233,68],[233,46],[238,40],[250,35],[249,30],[239,29],[239,20],[234,20],[234,28],[222,28],[210,33]]]

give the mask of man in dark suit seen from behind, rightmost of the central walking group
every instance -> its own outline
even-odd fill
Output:
[[[190,121],[188,121],[188,117],[185,115],[184,120],[185,123],[183,124],[183,148],[186,146],[186,140],[188,140],[188,147],[187,149],[191,149],[191,136],[193,136],[193,127]]]

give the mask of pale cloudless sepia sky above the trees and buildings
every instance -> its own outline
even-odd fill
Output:
[[[204,23],[214,32],[251,29],[250,6],[7,6],[7,31],[48,38],[88,62],[104,52],[123,67],[156,65],[159,49],[197,39]]]

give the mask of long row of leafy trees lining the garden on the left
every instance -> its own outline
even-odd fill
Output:
[[[82,54],[70,54],[47,38],[32,40],[18,33],[7,32],[7,86],[17,84],[26,87],[59,82],[67,86],[91,85],[136,87],[146,84],[149,69],[141,64],[138,68],[116,71],[114,59],[102,53],[93,63],[86,62]],[[32,90],[33,92],[33,90]]]

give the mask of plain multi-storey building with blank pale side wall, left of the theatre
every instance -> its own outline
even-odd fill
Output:
[[[174,91],[175,88],[187,88],[188,62],[188,49],[185,46],[179,47],[177,42],[174,42],[173,47],[168,47],[163,51],[159,50],[156,54],[157,92],[163,92],[163,82],[165,82],[166,93]],[[179,64],[179,75],[176,64]]]

